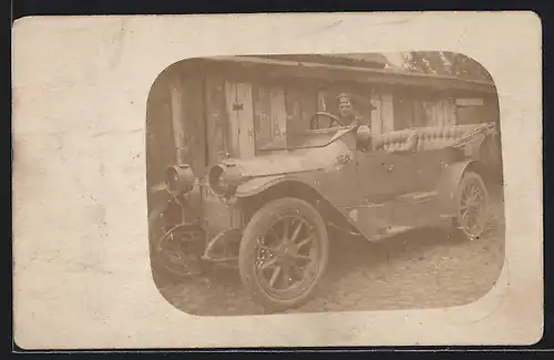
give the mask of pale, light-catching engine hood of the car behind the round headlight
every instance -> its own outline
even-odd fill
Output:
[[[242,176],[270,176],[312,172],[337,164],[340,154],[350,153],[343,142],[337,141],[325,147],[284,151],[271,155],[248,158],[227,158],[220,165],[237,167]]]

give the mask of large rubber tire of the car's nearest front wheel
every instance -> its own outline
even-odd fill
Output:
[[[286,246],[285,241],[277,239],[276,232],[279,222],[291,224],[295,230],[300,228],[296,238],[293,238],[293,239],[288,241],[289,246]],[[285,225],[283,225],[283,228],[285,228]],[[310,233],[308,233],[309,228],[311,228]],[[275,235],[269,236],[270,232]],[[285,233],[285,229],[283,233]],[[286,233],[289,234],[290,230]],[[298,238],[305,239],[298,240]],[[271,244],[273,248],[281,247],[284,249],[278,251],[264,248],[266,247],[265,241],[268,239],[274,239],[275,244],[283,243],[281,245]],[[308,249],[307,245],[309,245],[309,255],[302,255]],[[267,247],[270,246],[267,245]],[[294,249],[290,250],[290,248]],[[291,259],[295,255],[287,254],[289,250],[296,251],[296,259]],[[267,263],[259,261],[260,251],[266,251],[264,256],[268,256]],[[327,227],[319,213],[302,199],[287,197],[266,204],[248,222],[240,240],[238,268],[243,284],[256,302],[269,311],[285,311],[301,306],[311,297],[327,269],[328,258],[329,238]],[[300,270],[298,264],[305,260],[309,264],[305,265],[304,269]],[[271,261],[275,263],[275,266],[274,268],[268,266],[268,270],[273,271],[271,279],[275,278],[275,280],[269,279],[268,284],[266,284],[267,278],[264,278],[263,271],[265,269],[263,267]],[[280,270],[277,270],[277,267]],[[276,272],[278,275],[275,275]],[[279,276],[281,277],[280,282],[287,286],[289,281],[294,280],[291,275],[294,272],[296,274],[295,277],[300,276],[301,278],[301,275],[304,275],[306,279],[304,281],[298,280],[299,284],[293,285],[290,294],[285,295],[284,292],[287,290],[268,289],[267,286],[270,286],[271,281],[277,282],[276,279]],[[286,276],[286,274],[289,276]],[[279,291],[281,292],[279,294]]]

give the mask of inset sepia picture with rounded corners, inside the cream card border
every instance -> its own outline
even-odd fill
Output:
[[[464,54],[183,60],[146,126],[152,271],[183,311],[440,308],[500,275],[499,97]]]

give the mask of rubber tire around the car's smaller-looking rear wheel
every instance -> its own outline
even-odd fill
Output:
[[[475,202],[479,203],[479,205],[475,205],[475,207],[479,206],[479,214],[476,214],[476,216],[475,214],[471,215],[472,217],[476,217],[475,219],[476,222],[469,222],[469,219],[464,219],[464,214],[469,214],[470,212],[472,212],[472,210],[464,212],[464,206],[463,206],[463,203],[465,203],[463,200],[468,199],[466,195],[471,196],[471,194],[468,194],[470,187],[475,188],[476,192],[479,192],[478,196],[480,197],[480,200]],[[453,224],[454,235],[456,237],[468,240],[479,239],[480,236],[486,229],[486,223],[489,219],[489,192],[486,189],[485,183],[483,182],[483,178],[474,172],[471,171],[465,172],[458,185],[454,199],[456,207],[455,218]],[[466,215],[466,217],[469,217],[469,215]],[[469,223],[476,223],[476,224],[474,224],[474,226],[470,226]]]

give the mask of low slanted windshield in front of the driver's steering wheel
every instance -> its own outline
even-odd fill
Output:
[[[260,150],[275,151],[322,147],[342,137],[352,128],[353,126],[331,127],[280,135],[276,136],[269,144],[261,146]]]

